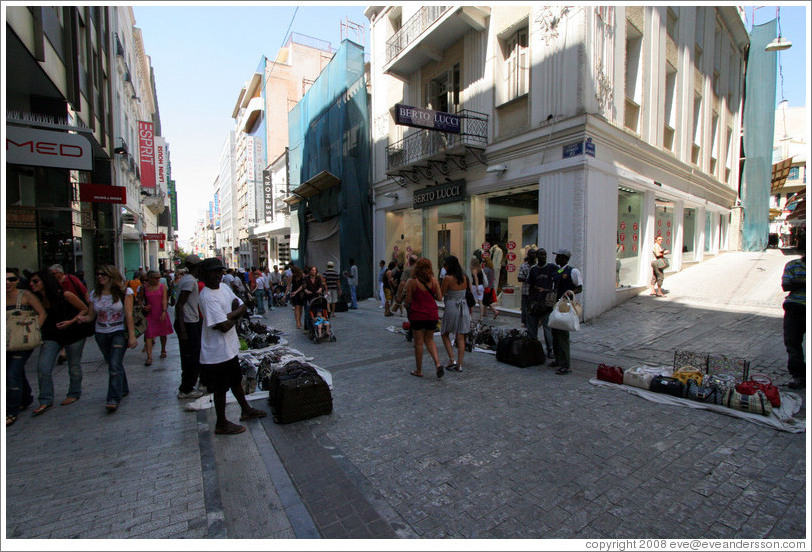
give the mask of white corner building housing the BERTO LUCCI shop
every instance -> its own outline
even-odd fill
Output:
[[[727,248],[743,11],[409,4],[366,15],[376,257],[414,250],[439,268],[448,253],[467,265],[498,246],[504,290],[528,248],[549,260],[566,248],[591,318],[648,285],[657,235],[671,270]],[[409,115],[400,122],[434,128],[398,124]],[[502,304],[518,308],[510,294]]]

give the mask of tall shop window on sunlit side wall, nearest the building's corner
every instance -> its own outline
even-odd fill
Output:
[[[644,197],[642,192],[618,187],[615,286],[619,288],[640,283],[640,217]]]

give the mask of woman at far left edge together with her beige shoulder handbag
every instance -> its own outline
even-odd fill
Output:
[[[39,329],[48,316],[33,293],[17,289],[19,281],[17,274],[6,271],[6,426],[16,422],[20,412],[34,402],[25,363],[41,343]]]

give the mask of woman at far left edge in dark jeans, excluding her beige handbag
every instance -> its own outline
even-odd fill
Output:
[[[9,327],[9,314],[14,311],[34,311],[40,327],[45,323],[48,314],[36,295],[25,289],[18,289],[19,275],[6,270],[6,328]],[[17,421],[21,411],[34,402],[31,385],[25,375],[25,363],[34,348],[26,351],[6,350],[6,426]]]

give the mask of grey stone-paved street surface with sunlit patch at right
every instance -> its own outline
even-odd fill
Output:
[[[150,367],[140,345],[127,352],[131,395],[106,414],[107,370],[90,340],[81,400],[23,413],[6,431],[3,548],[74,537],[804,538],[804,434],[587,381],[597,362],[670,364],[686,348],[745,356],[783,383],[789,258],[726,253],[668,276],[668,298],[643,291],[573,334],[569,376],[469,353],[441,380],[425,355],[427,377],[414,378],[412,345],[385,330],[402,319],[376,301],[336,315],[337,342],[320,345],[277,309],[267,322],[332,372],[334,411],[253,420],[237,436],[214,436],[211,410],[185,412],[175,398],[174,337]],[[36,392],[33,358],[27,369]]]

